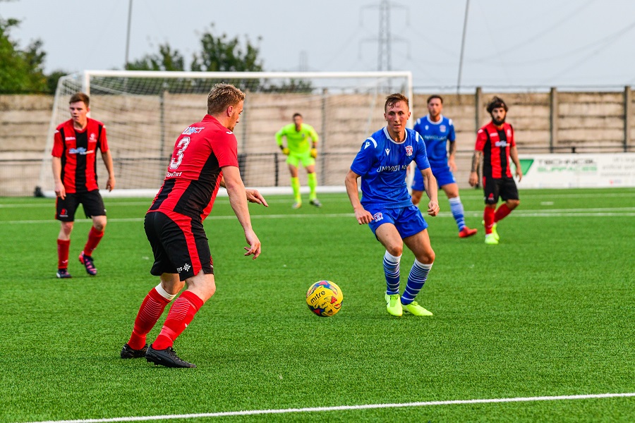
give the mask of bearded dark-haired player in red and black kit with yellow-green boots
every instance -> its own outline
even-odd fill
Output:
[[[488,104],[488,112],[492,116],[492,121],[480,128],[476,135],[476,151],[472,158],[469,182],[472,186],[478,184],[478,164],[483,157],[485,244],[497,245],[500,239],[496,230],[498,221],[520,204],[509,159],[514,161],[519,182],[523,172],[518,159],[516,140],[514,140],[514,128],[505,122],[507,104],[500,97],[494,97]],[[496,209],[499,197],[504,203]]]

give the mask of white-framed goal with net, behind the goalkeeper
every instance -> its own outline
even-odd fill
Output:
[[[263,192],[291,192],[286,157],[275,133],[294,113],[320,137],[316,159],[318,190],[343,191],[344,176],[363,140],[385,125],[383,106],[392,92],[412,98],[410,72],[368,73],[200,73],[85,71],[59,80],[40,171],[40,191],[53,196],[51,151],[54,130],[70,118],[75,92],[90,96],[90,117],[107,128],[116,189],[110,195],[153,196],[159,190],[174,141],[207,111],[207,93],[217,82],[235,85],[247,97],[234,133],[241,176]],[[107,178],[101,157],[97,175]],[[306,186],[306,173],[300,172]],[[272,189],[269,189],[272,188]],[[102,191],[103,192],[103,191]]]

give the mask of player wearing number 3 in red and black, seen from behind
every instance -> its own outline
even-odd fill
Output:
[[[260,255],[260,240],[251,227],[247,202],[265,207],[257,190],[246,190],[238,170],[238,145],[232,132],[243,111],[245,93],[233,85],[217,84],[207,97],[207,115],[188,126],[176,140],[163,186],[145,215],[145,234],[155,263],[150,273],[161,282],[145,296],[130,341],[121,358],[145,357],[167,367],[196,367],[174,352],[174,340],[198,309],[216,291],[210,246],[202,221],[212,211],[219,186],[243,226],[245,255]],[[174,301],[157,339],[148,348],[147,333],[168,303]]]

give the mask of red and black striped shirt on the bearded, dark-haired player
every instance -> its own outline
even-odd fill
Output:
[[[503,123],[500,128],[493,122],[478,130],[475,149],[483,152],[483,177],[512,178],[509,150],[516,145],[514,128]]]

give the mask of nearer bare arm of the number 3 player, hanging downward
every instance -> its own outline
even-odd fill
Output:
[[[222,171],[225,189],[229,195],[229,204],[234,210],[238,222],[241,223],[243,231],[245,231],[245,239],[249,244],[249,247],[245,247],[247,251],[245,255],[253,255],[253,259],[257,259],[260,255],[260,240],[251,227],[247,195],[241,173],[236,166],[223,166]]]

